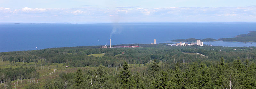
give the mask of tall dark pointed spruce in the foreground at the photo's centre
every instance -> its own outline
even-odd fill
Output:
[[[120,84],[122,85],[122,87],[124,89],[128,88],[129,86],[129,78],[131,76],[130,71],[128,70],[128,64],[126,62],[124,62],[123,65],[123,70],[120,72]]]

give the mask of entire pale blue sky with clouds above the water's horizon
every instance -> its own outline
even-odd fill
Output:
[[[0,22],[255,21],[255,0],[0,0]]]

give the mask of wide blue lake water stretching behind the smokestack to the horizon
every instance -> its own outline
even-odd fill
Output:
[[[168,43],[174,39],[229,38],[256,30],[256,23],[0,23],[0,52],[56,47]],[[208,44],[209,42],[204,42]],[[211,42],[213,46],[256,46]]]

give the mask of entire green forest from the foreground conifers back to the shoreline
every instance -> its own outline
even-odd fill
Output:
[[[256,47],[167,46],[166,43],[118,46],[125,45],[143,48],[81,46],[2,52],[3,62],[30,63],[30,67],[0,68],[0,75],[5,76],[0,78],[6,83],[34,79],[26,87],[32,89],[256,88]],[[104,56],[88,56],[102,53]],[[59,67],[70,66],[63,70],[72,72],[59,71],[52,80],[40,82],[38,71],[57,63],[62,64]]]

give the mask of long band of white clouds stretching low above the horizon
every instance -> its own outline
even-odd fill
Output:
[[[183,19],[186,21],[190,19],[204,18],[209,19],[230,19],[232,21],[241,21],[241,19],[250,19],[256,21],[256,6],[248,7],[159,7],[159,8],[95,8],[95,7],[82,7],[82,8],[29,8],[24,7],[20,9],[11,9],[0,7],[1,17],[20,17],[20,18],[72,18],[76,17],[90,17],[94,20],[105,21],[109,17],[122,17],[125,19],[133,18],[134,21],[140,19],[155,18],[163,21],[170,19]],[[21,17],[24,15],[25,17]],[[187,18],[185,18],[187,17]],[[188,18],[189,17],[189,18]],[[192,18],[193,17],[193,18]],[[136,18],[136,19],[135,19]],[[208,19],[207,19],[208,18]],[[239,19],[240,18],[240,19]],[[8,18],[7,18],[8,19]],[[104,20],[105,19],[105,20]],[[77,19],[80,21],[80,19]],[[111,20],[111,19],[110,19]],[[132,19],[129,19],[132,20]],[[2,21],[0,19],[0,21]],[[159,20],[161,21],[161,20]],[[210,21],[210,20],[209,20]],[[222,19],[220,19],[222,21]],[[226,20],[225,20],[226,21]]]

